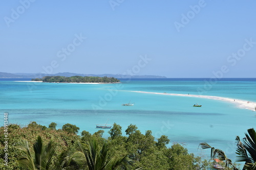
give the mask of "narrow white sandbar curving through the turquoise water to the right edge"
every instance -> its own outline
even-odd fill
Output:
[[[125,90],[126,91],[126,90]],[[176,93],[159,93],[159,92],[146,92],[146,91],[131,91],[131,92],[138,92],[138,93],[147,93],[147,94],[160,94],[160,95],[176,95],[176,96],[186,96],[186,97],[194,97],[194,98],[205,98],[205,99],[213,99],[219,101],[225,101],[229,103],[236,104],[239,108],[242,109],[249,109],[255,111],[256,103],[250,102],[239,99],[230,99],[224,98],[219,96],[211,96],[211,95],[195,95],[195,94],[176,94]]]

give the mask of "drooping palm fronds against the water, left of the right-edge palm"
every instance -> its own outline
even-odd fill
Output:
[[[229,168],[229,165],[233,166],[233,169],[234,170],[237,170],[238,168],[236,166],[234,166],[232,164],[232,161],[230,159],[228,159],[225,155],[225,152],[223,152],[222,150],[220,149],[215,149],[214,147],[211,147],[208,143],[206,142],[203,142],[203,143],[200,143],[199,145],[201,145],[201,148],[202,149],[211,149],[211,152],[210,152],[210,157],[212,159],[219,159],[221,161],[225,161],[225,167],[226,168]]]

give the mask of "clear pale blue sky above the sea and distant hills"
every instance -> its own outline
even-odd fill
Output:
[[[255,77],[256,2],[2,1],[0,72]]]

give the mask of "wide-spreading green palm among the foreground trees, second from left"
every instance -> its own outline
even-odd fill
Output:
[[[132,161],[127,156],[109,158],[109,145],[104,142],[101,148],[94,138],[86,144],[77,141],[74,149],[75,151],[69,150],[65,154],[62,166],[76,164],[80,168],[87,166],[89,170],[130,169],[132,166]]]

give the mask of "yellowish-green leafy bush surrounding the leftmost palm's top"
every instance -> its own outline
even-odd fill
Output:
[[[33,144],[36,142],[38,135],[41,136],[43,143],[49,143],[51,140],[56,144],[55,154],[53,156],[54,162],[58,162],[60,154],[67,150],[68,147],[74,143],[75,140],[79,139],[76,134],[70,134],[66,131],[56,131],[52,129],[41,128],[44,126],[38,125],[35,122],[31,123],[27,127],[20,127],[18,125],[10,125],[8,127],[8,166],[4,165],[4,148],[5,148],[5,137],[0,135],[0,169],[1,170],[20,170],[22,169],[17,162],[17,159],[22,157],[23,153],[21,150],[15,148],[17,143],[20,141],[28,141],[29,150],[31,155],[34,154]],[[43,130],[44,129],[44,130]],[[4,127],[0,128],[1,132],[4,132]]]

